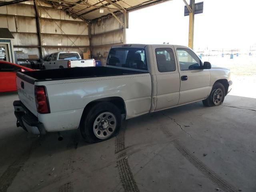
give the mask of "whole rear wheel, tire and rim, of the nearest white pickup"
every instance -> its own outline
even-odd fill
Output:
[[[84,114],[80,131],[89,143],[107,140],[114,136],[121,126],[121,112],[110,102],[100,102]]]

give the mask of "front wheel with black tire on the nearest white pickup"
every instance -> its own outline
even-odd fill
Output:
[[[216,96],[216,94],[218,94],[219,97]],[[211,91],[210,95],[208,96],[208,98],[206,98],[202,102],[203,102],[204,106],[207,106],[207,107],[219,106],[224,101],[224,98],[225,98],[225,88],[224,88],[223,84],[216,82],[212,86],[212,91]]]

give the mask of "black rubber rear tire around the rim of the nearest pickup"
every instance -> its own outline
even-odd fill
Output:
[[[116,126],[115,126],[114,130],[112,129],[112,132],[110,133],[110,136],[108,138],[98,138],[100,135],[97,135],[98,136],[97,137],[96,133],[94,133],[94,132],[96,132],[95,131],[96,128],[94,130],[94,124],[97,123],[96,121],[98,121],[98,119],[97,119],[98,116],[105,112],[107,114],[108,113],[114,114]],[[104,119],[102,119],[102,121],[103,120]],[[100,123],[102,123],[102,122],[98,123],[99,127],[100,127]],[[110,124],[111,124],[111,122],[110,122]],[[109,124],[109,126],[111,126],[110,124]],[[88,112],[85,112],[83,114],[83,117],[82,117],[82,120],[80,123],[80,131],[81,131],[82,137],[86,140],[86,142],[89,142],[89,143],[101,142],[101,141],[108,140],[108,139],[112,138],[113,136],[115,136],[118,133],[118,130],[120,129],[121,124],[122,124],[121,111],[111,102],[99,102],[99,103],[95,104],[94,106],[92,106],[90,108],[90,110],[88,110]],[[107,127],[106,129],[109,129],[109,128],[110,127]],[[105,131],[100,130],[100,128],[98,128],[98,130],[100,132],[102,132],[101,135],[103,136]],[[109,133],[109,131],[107,131],[107,132]]]

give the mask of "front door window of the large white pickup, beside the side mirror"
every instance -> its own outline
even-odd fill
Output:
[[[200,59],[194,52],[186,48],[177,48],[180,70],[201,69]]]

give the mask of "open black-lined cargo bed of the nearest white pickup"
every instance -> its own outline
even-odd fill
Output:
[[[63,68],[63,69],[38,70],[38,71],[32,71],[32,72],[30,71],[18,72],[17,76],[23,80],[26,80],[27,82],[34,83],[34,82],[40,82],[40,81],[118,76],[118,75],[130,75],[130,74],[142,74],[142,73],[148,73],[148,72],[111,68],[111,67],[74,67],[74,68]]]

